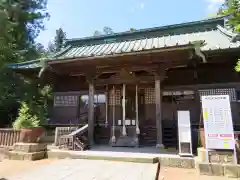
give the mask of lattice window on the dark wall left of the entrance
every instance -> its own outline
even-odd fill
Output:
[[[72,95],[55,95],[54,96],[54,106],[77,106],[78,96]]]

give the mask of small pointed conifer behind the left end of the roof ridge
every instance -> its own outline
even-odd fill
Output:
[[[59,52],[67,39],[66,32],[62,28],[56,30],[56,35],[53,42],[49,42],[48,51],[51,53]]]

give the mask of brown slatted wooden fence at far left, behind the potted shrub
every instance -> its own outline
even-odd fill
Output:
[[[0,147],[11,147],[19,142],[20,131],[14,129],[0,129]]]

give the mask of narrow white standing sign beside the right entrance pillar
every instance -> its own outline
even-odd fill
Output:
[[[178,111],[179,155],[192,156],[190,111]]]

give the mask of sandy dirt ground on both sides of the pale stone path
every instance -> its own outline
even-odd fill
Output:
[[[49,164],[55,160],[44,159],[40,161],[10,161],[0,162],[0,180],[10,175],[15,175],[23,171],[30,171],[34,168]],[[161,167],[159,180],[227,180],[225,177],[199,176],[194,169],[180,169]],[[229,178],[229,180],[234,180]]]

